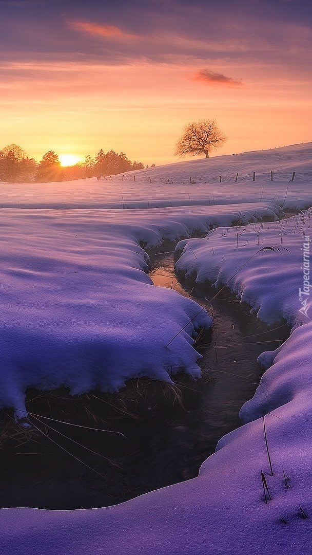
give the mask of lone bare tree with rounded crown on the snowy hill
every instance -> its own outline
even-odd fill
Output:
[[[199,122],[188,123],[183,135],[176,144],[175,156],[184,158],[187,154],[209,158],[213,148],[221,147],[227,138],[221,133],[214,119],[200,119]]]

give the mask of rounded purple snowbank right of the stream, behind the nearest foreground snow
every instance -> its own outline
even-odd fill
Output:
[[[198,284],[226,284],[260,320],[274,324],[283,318],[292,327],[307,320],[300,310],[305,307],[302,297],[309,299],[304,273],[309,276],[310,227],[308,210],[276,223],[214,229],[205,239],[177,245],[176,269]]]

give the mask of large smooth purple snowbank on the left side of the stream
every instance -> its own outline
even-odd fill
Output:
[[[117,391],[133,377],[170,381],[181,370],[200,376],[192,337],[211,317],[176,291],[152,285],[142,246],[231,225],[239,213],[245,223],[277,219],[268,203],[3,210],[0,406],[24,411],[27,387],[64,385],[79,394]]]

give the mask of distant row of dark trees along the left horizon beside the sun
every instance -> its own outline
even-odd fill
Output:
[[[39,163],[16,144],[0,150],[0,180],[9,183],[69,181],[141,169],[144,169],[141,162],[131,162],[124,152],[117,154],[114,150],[105,153],[100,149],[94,159],[88,154],[83,162],[65,167],[54,150],[45,153]]]

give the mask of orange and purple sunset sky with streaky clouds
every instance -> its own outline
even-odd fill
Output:
[[[0,0],[0,149],[177,162],[216,119],[214,155],[312,140],[310,0]]]

